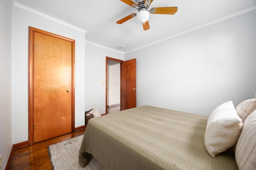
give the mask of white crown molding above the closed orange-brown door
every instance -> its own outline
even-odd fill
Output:
[[[28,8],[28,7],[24,6],[24,5],[21,5],[21,4],[17,3],[17,2],[15,2],[15,0],[12,0],[12,5],[13,5],[13,6],[16,6],[16,7],[18,7],[18,8],[21,8],[21,9],[23,9],[23,10],[26,10],[26,11],[28,11],[28,12],[31,12],[31,13],[33,13],[33,14],[36,14],[36,15],[38,15],[38,16],[42,16],[42,17],[44,17],[44,18],[47,18],[48,20],[52,20],[52,21],[54,21],[54,22],[57,22],[57,23],[60,23],[60,24],[62,24],[62,25],[65,25],[65,26],[67,26],[67,27],[70,27],[70,28],[75,29],[75,30],[77,30],[77,31],[80,31],[80,32],[82,32],[82,33],[86,33],[86,32],[87,32],[87,31],[85,31],[84,29],[80,29],[80,28],[78,28],[78,27],[75,27],[74,25],[71,25],[71,24],[66,23],[66,22],[64,22],[64,21],[58,20],[58,19],[53,18],[53,17],[51,17],[51,16],[48,16],[48,15],[46,15],[46,14],[43,14],[42,12],[38,12],[38,11],[33,10],[33,9],[31,9],[31,8]]]

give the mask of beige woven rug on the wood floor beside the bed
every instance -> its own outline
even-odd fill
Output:
[[[89,164],[82,167],[78,163],[78,151],[84,135],[68,139],[48,146],[53,170],[104,170],[101,164],[92,156]]]

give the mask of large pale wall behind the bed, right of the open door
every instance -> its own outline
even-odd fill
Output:
[[[137,106],[209,115],[256,92],[256,10],[127,53],[137,61]]]

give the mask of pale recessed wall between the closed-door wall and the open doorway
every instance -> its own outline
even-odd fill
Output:
[[[106,113],[106,56],[124,60],[123,53],[86,43],[85,110],[95,108],[100,113]]]

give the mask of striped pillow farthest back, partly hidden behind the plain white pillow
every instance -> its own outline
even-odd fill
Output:
[[[256,109],[256,99],[248,99],[245,100],[244,102],[240,103],[236,107],[236,111],[239,115],[239,117],[242,119],[243,123],[254,110]]]

